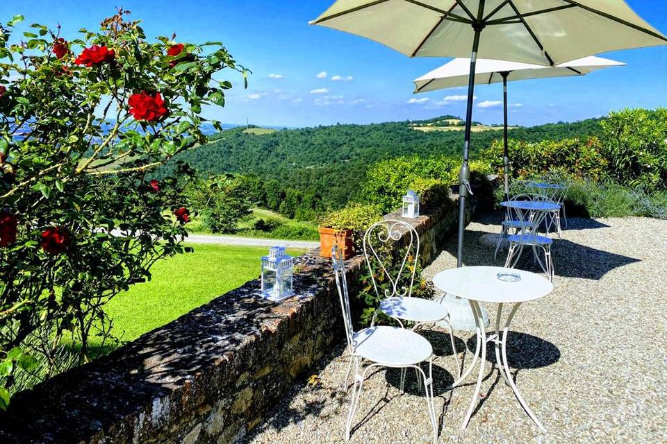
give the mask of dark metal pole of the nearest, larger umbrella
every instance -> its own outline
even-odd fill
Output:
[[[481,10],[484,1],[480,2]],[[470,167],[468,167],[468,152],[470,148],[470,133],[472,132],[472,101],[475,98],[475,68],[477,65],[477,50],[479,37],[484,25],[473,24],[475,38],[472,40],[472,55],[470,57],[470,77],[468,78],[468,108],[466,110],[466,135],[463,142],[463,164],[459,171],[459,241],[456,246],[456,266],[463,266],[463,233],[466,231],[466,200],[470,195]]]

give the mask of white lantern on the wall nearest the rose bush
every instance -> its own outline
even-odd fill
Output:
[[[285,247],[272,247],[262,257],[262,297],[278,302],[294,296],[294,257],[285,253]]]

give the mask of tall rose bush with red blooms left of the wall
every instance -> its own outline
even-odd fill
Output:
[[[203,110],[231,87],[217,74],[247,73],[220,42],[147,40],[124,10],[73,39],[41,24],[14,37],[20,22],[0,26],[1,409],[37,363],[58,371],[63,344],[96,357],[106,302],[188,250],[193,172],[150,174],[206,142]]]

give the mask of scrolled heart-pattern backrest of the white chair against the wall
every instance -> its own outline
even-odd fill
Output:
[[[392,264],[391,250],[389,255],[382,257],[384,252],[381,250],[390,247],[390,243],[399,244],[400,248],[405,249],[397,270],[390,269],[396,267]],[[391,219],[370,225],[363,235],[363,254],[373,289],[379,298],[412,295],[419,260],[419,234],[412,225],[406,221]],[[384,273],[389,283],[389,288],[384,289],[382,294],[378,288],[377,273]]]

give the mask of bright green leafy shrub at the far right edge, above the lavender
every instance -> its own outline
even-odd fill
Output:
[[[667,108],[611,112],[602,122],[609,175],[622,185],[649,191],[667,180]]]

